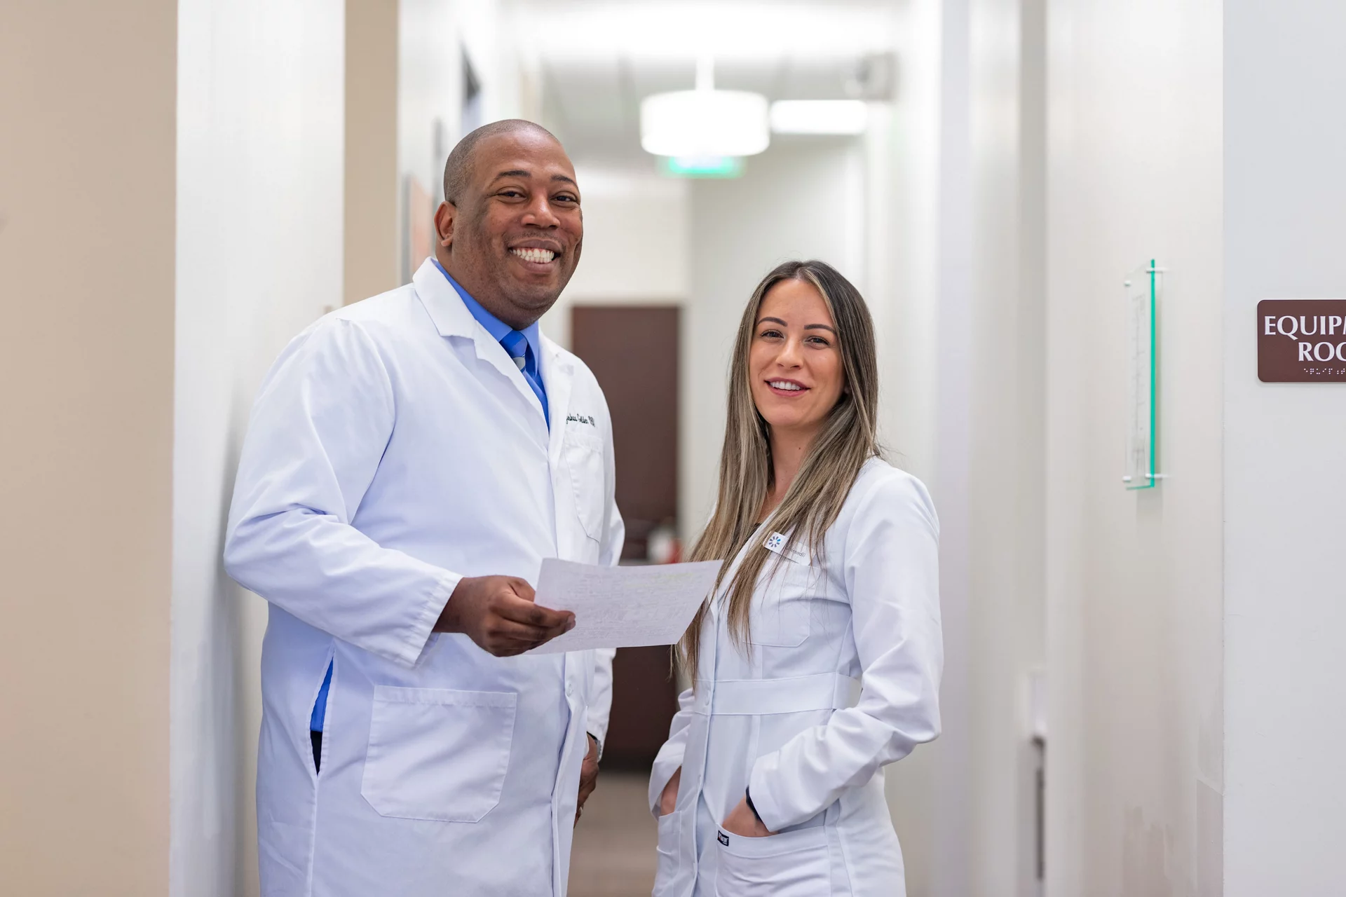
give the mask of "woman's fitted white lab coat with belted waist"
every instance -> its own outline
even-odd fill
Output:
[[[913,476],[864,465],[821,558],[777,553],[758,580],[751,646],[730,637],[721,586],[650,777],[682,769],[658,820],[656,897],[900,897],[883,767],[940,733],[938,522]],[[801,541],[802,542],[802,541]],[[738,558],[735,559],[735,565]],[[728,585],[730,577],[724,578]],[[857,699],[856,699],[857,698]],[[720,823],[751,789],[766,838]]]

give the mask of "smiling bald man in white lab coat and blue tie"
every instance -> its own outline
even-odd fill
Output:
[[[611,652],[545,557],[615,563],[598,382],[541,336],[579,262],[575,169],[532,122],[464,137],[436,257],[285,348],[253,407],[225,565],[271,602],[257,756],[271,897],[565,893]]]

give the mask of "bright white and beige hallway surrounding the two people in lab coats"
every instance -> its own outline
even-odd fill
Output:
[[[941,526],[942,732],[884,773],[909,897],[1346,894],[1346,342],[1291,332],[1346,339],[1343,35],[1341,0],[7,3],[0,892],[258,897],[250,407],[518,117],[583,194],[537,323],[621,387],[626,562],[717,500],[762,274],[864,296]],[[752,140],[647,140],[742,137],[646,121],[686,94]],[[614,732],[653,754],[669,691]],[[654,845],[603,772],[571,893],[643,897]]]

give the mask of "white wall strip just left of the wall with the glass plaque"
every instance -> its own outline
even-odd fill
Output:
[[[969,7],[966,855],[948,894],[1038,893],[1030,682],[1046,663],[1044,0]],[[956,834],[956,832],[954,832]],[[954,847],[944,859],[958,862]]]

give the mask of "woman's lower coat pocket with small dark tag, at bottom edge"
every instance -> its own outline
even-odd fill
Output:
[[[766,838],[717,831],[716,839],[716,897],[826,897],[832,893],[828,832],[822,826]]]

